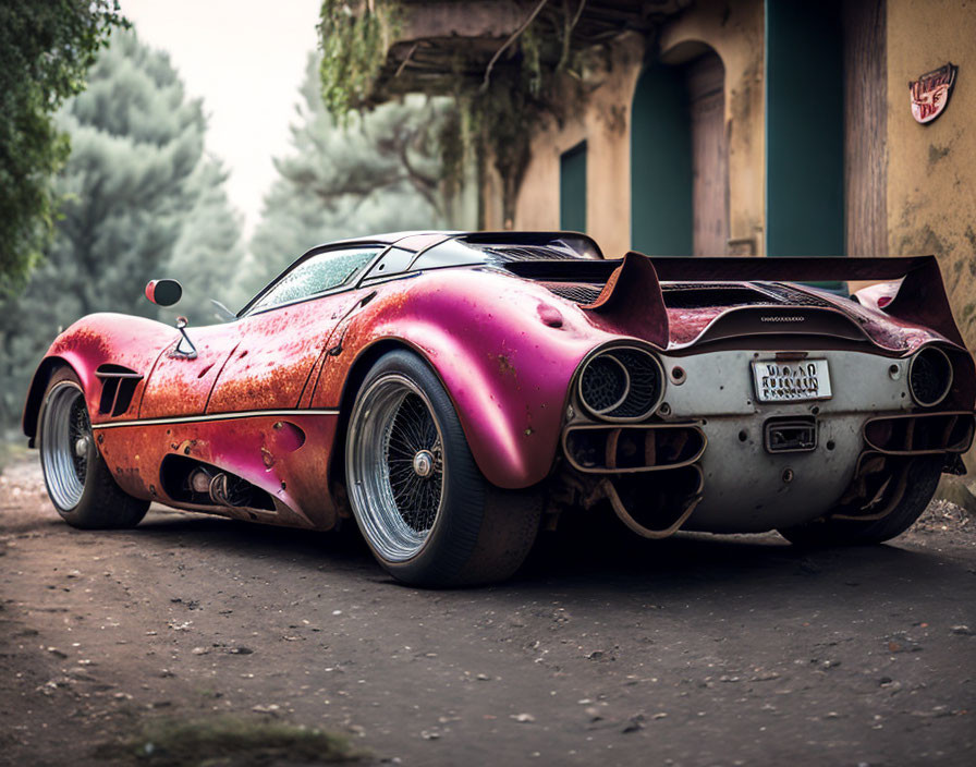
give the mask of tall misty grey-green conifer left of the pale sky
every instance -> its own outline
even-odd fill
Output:
[[[62,328],[91,312],[157,316],[143,295],[155,277],[183,280],[181,312],[210,318],[198,291],[232,299],[218,289],[241,255],[225,174],[203,155],[200,105],[186,99],[164,53],[114,33],[57,124],[72,153],[53,186],[64,200],[56,236],[23,294],[0,302],[0,423],[19,417]]]

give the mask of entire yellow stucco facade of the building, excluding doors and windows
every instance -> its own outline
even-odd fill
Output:
[[[730,236],[752,240],[730,252],[765,253],[764,2],[701,0],[660,31],[666,60],[696,44],[725,66]],[[888,0],[886,56],[887,230],[892,255],[938,256],[956,321],[976,350],[976,0]],[[516,205],[517,229],[559,227],[559,157],[587,141],[587,228],[608,255],[630,248],[631,108],[645,42],[619,38],[610,68],[578,114],[549,124],[533,141],[533,159]],[[947,61],[959,76],[945,113],[928,125],[912,118],[908,81]],[[598,84],[598,85],[597,85]],[[813,95],[812,95],[813,97]],[[500,184],[487,163],[485,226],[503,228]]]

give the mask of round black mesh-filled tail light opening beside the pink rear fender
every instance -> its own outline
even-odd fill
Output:
[[[583,406],[603,421],[642,421],[664,395],[664,374],[650,352],[618,346],[591,356],[580,374]]]

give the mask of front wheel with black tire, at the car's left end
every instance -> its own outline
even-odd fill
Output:
[[[68,412],[74,413],[77,423],[65,431],[61,421]],[[75,445],[84,440],[84,449],[65,456],[61,443],[65,434],[74,434]],[[37,419],[37,447],[51,503],[73,527],[135,527],[149,501],[133,498],[115,484],[93,437],[82,384],[70,367],[59,368],[48,381]],[[72,472],[77,485],[72,484]]]

